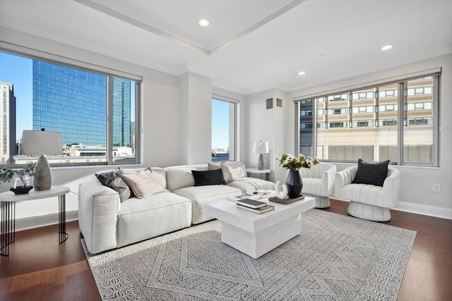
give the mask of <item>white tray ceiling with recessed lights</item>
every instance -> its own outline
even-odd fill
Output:
[[[0,26],[239,94],[452,53],[451,0],[1,0]]]

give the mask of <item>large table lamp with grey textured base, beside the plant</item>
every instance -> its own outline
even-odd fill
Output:
[[[49,162],[44,155],[63,154],[61,147],[61,134],[57,132],[46,132],[41,130],[24,130],[20,154],[40,155],[37,160],[35,175],[33,176],[33,188],[38,190],[49,190],[52,188],[52,173]]]

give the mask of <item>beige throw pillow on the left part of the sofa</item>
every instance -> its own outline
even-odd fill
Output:
[[[129,185],[138,199],[145,199],[157,192],[165,191],[148,169],[136,173],[118,173],[118,176]]]

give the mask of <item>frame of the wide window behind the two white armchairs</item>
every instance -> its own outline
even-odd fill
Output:
[[[433,129],[432,129],[432,135],[433,135],[433,142],[432,142],[432,163],[410,163],[410,162],[404,162],[404,158],[403,158],[403,149],[404,149],[404,144],[403,144],[403,127],[404,127],[404,119],[403,119],[403,113],[404,113],[404,108],[405,106],[403,105],[405,103],[405,98],[407,97],[406,94],[408,94],[408,86],[407,86],[407,82],[410,80],[416,80],[416,79],[420,79],[420,78],[428,78],[428,77],[432,77],[433,78],[433,87],[432,87],[432,112],[433,112]],[[440,102],[440,94],[441,94],[441,68],[433,68],[433,69],[429,69],[429,70],[423,70],[417,73],[411,73],[409,75],[400,75],[400,76],[396,76],[393,78],[386,78],[386,79],[382,79],[382,80],[375,80],[373,82],[367,82],[367,84],[357,84],[357,85],[352,85],[350,87],[345,87],[345,88],[338,88],[335,90],[331,90],[331,91],[326,91],[326,92],[320,92],[320,93],[314,93],[314,94],[308,94],[306,96],[301,96],[301,97],[294,97],[292,100],[295,103],[295,114],[296,114],[296,118],[295,121],[299,121],[299,111],[300,111],[300,103],[301,102],[306,102],[307,99],[311,100],[312,103],[312,110],[314,112],[319,112],[319,109],[317,107],[317,102],[314,101],[314,99],[326,99],[328,98],[328,96],[331,95],[338,95],[338,94],[353,94],[353,93],[357,93],[360,90],[366,90],[366,89],[372,89],[375,87],[379,87],[379,86],[384,86],[384,85],[394,85],[397,84],[398,85],[398,90],[393,90],[393,96],[389,96],[389,97],[394,97],[397,99],[397,104],[395,105],[395,108],[401,108],[400,110],[398,110],[398,117],[397,119],[393,119],[393,121],[396,121],[395,124],[393,125],[381,125],[381,122],[377,119],[374,121],[374,127],[379,127],[379,126],[395,126],[398,129],[398,145],[396,146],[398,148],[398,161],[397,161],[397,165],[398,166],[423,166],[423,167],[439,167],[440,166],[440,159],[439,159],[439,125],[440,120],[439,120],[439,102]],[[423,90],[425,91],[425,90]],[[387,92],[387,91],[385,91]],[[404,93],[405,92],[405,93]],[[417,94],[415,94],[414,96],[416,96]],[[388,97],[385,94],[385,97]],[[359,100],[359,99],[353,99],[353,100]],[[384,105],[383,105],[384,106]],[[376,105],[376,111],[380,111],[379,110],[379,105]],[[325,110],[327,111],[327,110]],[[385,111],[386,111],[386,106],[385,106]],[[311,156],[316,156],[316,152],[317,152],[317,141],[316,141],[316,136],[317,133],[316,131],[319,128],[319,123],[317,121],[317,114],[313,114],[313,118],[312,118],[312,122],[316,123],[318,126],[315,128],[312,128],[312,154]],[[328,121],[329,123],[329,121]],[[295,154],[300,154],[300,148],[301,146],[300,144],[300,137],[299,137],[299,129],[300,129],[300,125],[299,122],[297,122],[296,128],[298,129],[297,131],[297,135],[295,137]],[[328,127],[329,128],[329,127]],[[324,161],[337,161],[337,160],[331,160],[331,159],[326,159]],[[338,162],[344,162],[344,163],[349,163],[351,161],[346,161],[346,160],[340,160]],[[354,162],[354,161],[353,161]]]

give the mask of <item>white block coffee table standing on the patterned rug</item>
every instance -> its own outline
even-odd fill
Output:
[[[258,258],[278,245],[299,235],[301,213],[315,206],[313,197],[292,204],[278,204],[273,211],[256,214],[238,209],[236,203],[222,199],[206,204],[206,214],[221,221],[221,241],[245,254]]]

